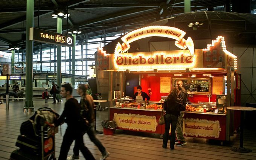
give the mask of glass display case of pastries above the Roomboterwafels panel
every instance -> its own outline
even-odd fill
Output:
[[[223,112],[224,110],[224,112]],[[216,102],[198,102],[186,105],[187,112],[226,114],[225,105],[216,105]]]

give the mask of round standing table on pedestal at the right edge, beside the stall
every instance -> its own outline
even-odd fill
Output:
[[[244,140],[244,111],[256,111],[256,108],[253,107],[227,107],[228,110],[237,110],[241,111],[241,120],[240,120],[240,145],[239,147],[231,148],[234,152],[241,152],[241,153],[249,153],[251,149],[243,147],[243,140]]]

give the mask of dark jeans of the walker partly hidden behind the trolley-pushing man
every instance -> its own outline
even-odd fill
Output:
[[[105,154],[106,148],[102,145],[101,141],[99,141],[99,139],[97,139],[95,137],[95,135],[93,133],[94,133],[94,122],[92,122],[90,124],[90,128],[88,129],[87,134],[88,134],[91,142],[93,142],[99,148],[99,151],[101,151],[101,154],[102,155]],[[75,141],[75,146],[73,148],[73,152],[74,152],[74,155],[79,155],[77,141]]]

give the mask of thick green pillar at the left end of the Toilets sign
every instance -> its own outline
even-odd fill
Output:
[[[27,0],[26,19],[26,101],[23,112],[34,112],[33,104],[33,41],[29,40],[29,29],[34,27],[34,0]]]

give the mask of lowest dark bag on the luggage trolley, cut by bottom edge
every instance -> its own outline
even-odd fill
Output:
[[[12,151],[9,160],[41,160],[40,155],[30,154],[29,151],[24,152],[21,149],[16,149]]]

